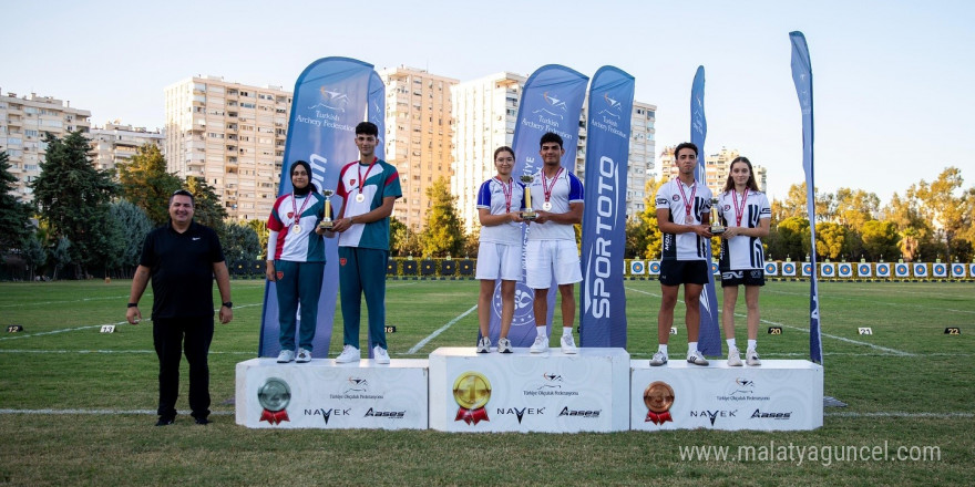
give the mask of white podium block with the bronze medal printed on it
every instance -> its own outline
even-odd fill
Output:
[[[633,362],[630,382],[634,431],[815,429],[823,422],[823,367],[804,360],[740,367],[642,360]]]

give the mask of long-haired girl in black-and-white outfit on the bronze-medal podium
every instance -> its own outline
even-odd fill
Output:
[[[738,287],[742,284],[745,302],[748,307],[746,363],[761,365],[756,352],[759,323],[758,293],[766,282],[761,237],[769,235],[772,214],[769,199],[758,190],[751,162],[747,157],[737,157],[731,162],[725,190],[718,198],[718,214],[727,229],[721,235],[721,257],[718,267],[725,292],[721,325],[728,342],[728,365],[741,366],[741,356],[735,343],[735,303],[738,300]]]

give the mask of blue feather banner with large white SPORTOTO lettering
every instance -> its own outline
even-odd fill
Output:
[[[586,113],[579,346],[626,348],[626,174],[634,77],[614,66],[593,76]]]

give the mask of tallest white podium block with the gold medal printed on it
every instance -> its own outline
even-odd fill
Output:
[[[617,432],[629,427],[629,353],[430,354],[430,427],[445,432]]]

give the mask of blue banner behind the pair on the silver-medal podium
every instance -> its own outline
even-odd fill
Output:
[[[295,82],[291,97],[291,117],[288,122],[288,139],[281,165],[278,196],[291,191],[290,167],[295,160],[307,160],[311,166],[311,179],[318,190],[338,185],[339,169],[358,155],[356,125],[367,117],[383,118],[373,113],[370,97],[372,64],[348,58],[324,58],[309,64]],[[374,89],[374,86],[372,86]],[[381,94],[379,95],[382,100]],[[378,104],[382,108],[383,103]],[[377,147],[378,149],[379,147]],[[341,207],[341,198],[332,197],[333,208]],[[338,296],[337,239],[325,240],[325,277],[318,300],[318,327],[312,346],[320,354],[328,351],[331,342],[332,317]],[[264,314],[260,320],[258,356],[276,356],[278,343],[278,302],[275,283],[267,282],[264,290]]]

